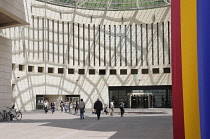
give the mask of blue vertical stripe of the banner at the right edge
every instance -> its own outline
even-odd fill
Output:
[[[210,139],[210,0],[197,0],[197,33],[201,138]]]

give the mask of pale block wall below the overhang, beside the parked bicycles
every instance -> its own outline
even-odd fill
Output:
[[[0,107],[12,104],[12,41],[0,36]]]

